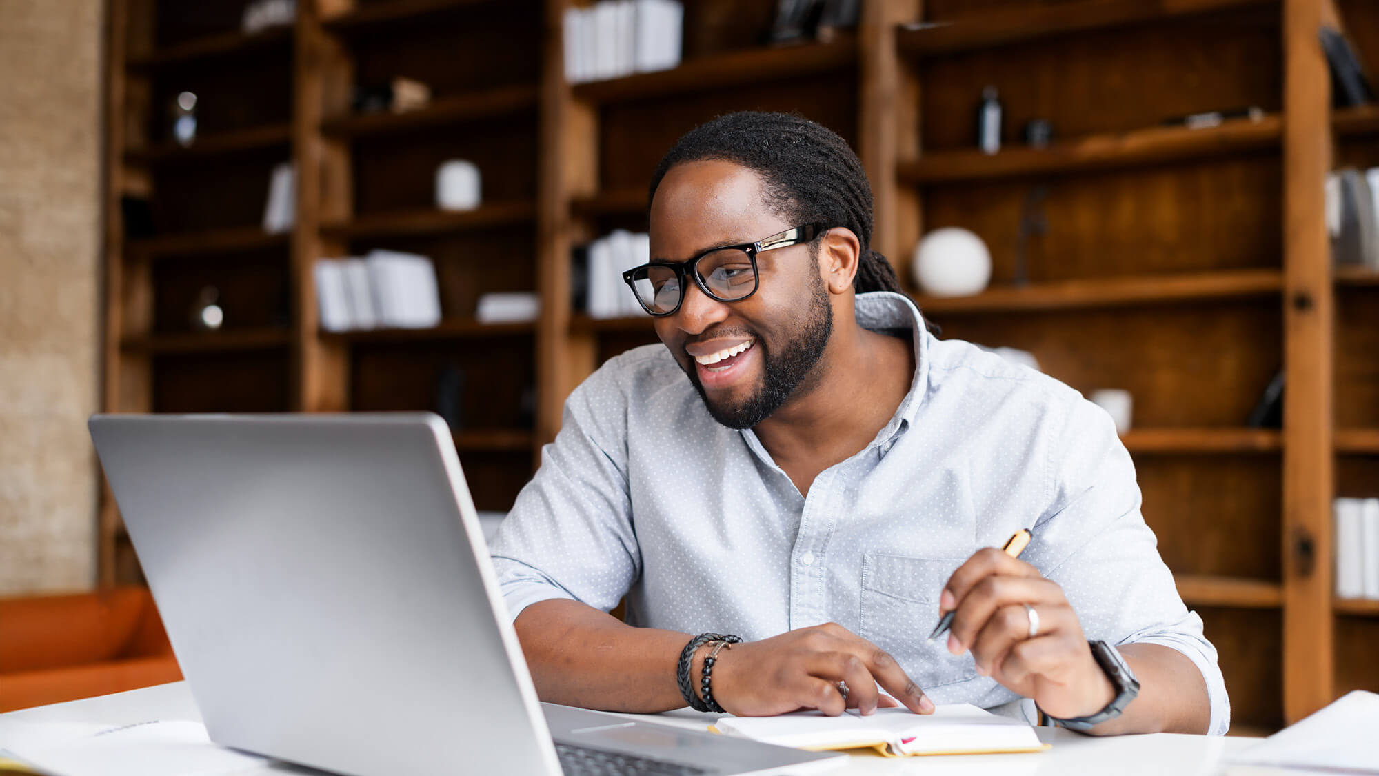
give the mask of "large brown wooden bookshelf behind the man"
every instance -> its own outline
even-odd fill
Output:
[[[1328,572],[1332,497],[1379,481],[1379,316],[1367,302],[1379,273],[1332,272],[1321,193],[1329,159],[1379,160],[1379,108],[1328,108],[1317,26],[1329,0],[863,0],[855,33],[779,48],[758,44],[774,0],[695,0],[678,68],[582,84],[563,72],[572,1],[308,0],[295,29],[245,36],[186,11],[237,19],[237,0],[112,0],[103,407],[425,410],[451,370],[466,400],[496,402],[462,413],[485,425],[455,445],[480,508],[506,508],[570,391],[656,341],[647,316],[572,308],[571,249],[645,228],[650,174],[695,123],[796,110],[858,151],[872,246],[899,278],[928,229],[987,242],[987,291],[917,297],[943,337],[1029,349],[1084,392],[1134,392],[1123,440],[1143,514],[1220,648],[1238,725],[1274,729],[1340,688],[1379,689],[1372,667],[1336,670],[1372,641],[1373,612],[1333,602]],[[1379,6],[1336,8],[1375,70]],[[356,84],[399,75],[430,84],[433,102],[352,115]],[[163,141],[165,99],[188,83],[208,102],[203,137],[183,149]],[[996,155],[972,149],[986,86],[1005,105]],[[1247,105],[1263,117],[1164,124]],[[1022,145],[1031,119],[1052,122],[1048,148]],[[266,235],[268,175],[288,156],[296,221]],[[481,168],[473,211],[433,204],[436,166],[455,157]],[[1047,229],[1022,242],[1036,189]],[[150,199],[157,236],[124,237],[124,195]],[[319,330],[314,261],[372,247],[433,257],[441,326]],[[1030,279],[1019,287],[1018,250]],[[258,290],[255,323],[183,330],[168,294],[203,282]],[[473,320],[479,294],[517,290],[539,294],[538,320]],[[1245,428],[1280,367],[1287,425]],[[521,399],[532,387],[535,418]],[[174,402],[201,394],[204,407]],[[120,537],[106,494],[105,584],[137,580]]]

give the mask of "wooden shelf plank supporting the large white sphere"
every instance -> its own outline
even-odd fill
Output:
[[[918,295],[916,302],[927,315],[1029,312],[1263,297],[1282,293],[1282,283],[1277,269],[1233,269],[997,286],[971,297]]]

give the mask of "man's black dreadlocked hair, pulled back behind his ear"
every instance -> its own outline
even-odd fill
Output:
[[[723,160],[754,170],[769,204],[792,224],[847,226],[862,255],[852,279],[856,293],[905,294],[895,269],[870,249],[872,186],[858,155],[832,130],[794,113],[727,113],[690,130],[656,166],[647,206],[676,164]]]

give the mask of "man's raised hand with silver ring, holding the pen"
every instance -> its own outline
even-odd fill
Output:
[[[1037,616],[1033,635],[1026,605]],[[994,547],[976,551],[939,596],[940,616],[953,609],[949,652],[972,650],[979,674],[1034,699],[1045,714],[1087,717],[1114,699],[1063,588],[1034,566]]]

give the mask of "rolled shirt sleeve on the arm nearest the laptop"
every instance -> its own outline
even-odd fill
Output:
[[[503,519],[490,554],[516,620],[567,598],[611,610],[641,572],[627,490],[626,392],[614,359],[565,400],[556,440]]]

